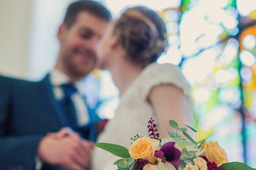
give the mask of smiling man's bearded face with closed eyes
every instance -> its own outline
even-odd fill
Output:
[[[61,62],[66,72],[83,78],[96,67],[96,44],[108,21],[88,12],[81,12],[72,26],[60,26],[58,39]]]

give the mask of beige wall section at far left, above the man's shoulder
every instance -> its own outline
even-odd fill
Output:
[[[0,0],[0,73],[28,75],[28,44],[33,0]]]

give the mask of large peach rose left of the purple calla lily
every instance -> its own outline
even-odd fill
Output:
[[[150,163],[156,162],[154,153],[160,148],[160,141],[149,137],[136,140],[129,147],[130,157],[133,159],[146,159]]]

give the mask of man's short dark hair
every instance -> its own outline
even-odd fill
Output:
[[[104,21],[112,20],[111,13],[100,2],[81,0],[75,1],[68,6],[63,23],[65,23],[68,27],[71,27],[72,24],[74,24],[77,20],[77,16],[80,12],[88,12]]]

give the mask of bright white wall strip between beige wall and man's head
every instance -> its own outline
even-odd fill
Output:
[[[74,0],[34,1],[28,78],[36,80],[41,79],[54,66],[59,52],[57,29],[63,21],[66,7]]]

